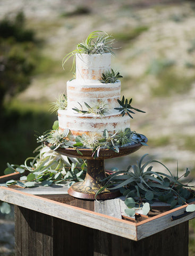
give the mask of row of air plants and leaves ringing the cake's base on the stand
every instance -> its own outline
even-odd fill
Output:
[[[147,146],[145,137],[141,134],[131,131],[130,128],[124,129],[124,131],[118,131],[114,134],[108,133],[105,129],[102,135],[96,132],[89,134],[83,133],[75,137],[75,141],[71,141],[70,130],[65,129],[61,131],[58,129],[58,122],[53,125],[53,129],[43,133],[43,135],[37,137],[37,142],[48,143],[48,146],[52,150],[56,150],[58,147],[61,148],[74,148],[77,152],[82,155],[80,149],[89,148],[92,150],[92,157],[97,158],[99,156],[100,149],[111,149],[115,153],[119,152],[119,148],[124,145],[130,145],[131,143],[141,143]]]

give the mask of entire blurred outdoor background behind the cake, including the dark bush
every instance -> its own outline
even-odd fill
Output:
[[[148,138],[148,147],[106,167],[124,170],[148,153],[172,172],[177,162],[181,172],[189,167],[195,178],[194,24],[194,1],[0,0],[0,174],[7,162],[33,156],[35,131],[57,119],[50,103],[72,78],[72,61],[63,70],[63,57],[103,30],[115,38],[112,68],[123,76],[121,95],[146,111],[134,115],[131,130]]]

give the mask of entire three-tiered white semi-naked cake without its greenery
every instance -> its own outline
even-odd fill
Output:
[[[122,116],[120,107],[121,82],[101,83],[103,73],[111,71],[111,53],[76,54],[76,78],[67,82],[67,109],[58,110],[59,129],[69,129],[74,139],[77,135],[95,132],[102,135],[106,129],[114,134],[130,127],[128,114]],[[87,104],[86,104],[87,103]],[[104,114],[88,113],[89,107],[105,107]],[[80,113],[75,108],[81,108]]]

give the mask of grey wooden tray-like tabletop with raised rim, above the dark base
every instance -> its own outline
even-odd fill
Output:
[[[0,183],[19,177],[19,173],[5,175]],[[52,192],[52,194],[51,194]],[[67,187],[6,188],[0,187],[0,200],[36,212],[70,221],[88,228],[129,238],[134,241],[149,237],[195,217],[195,212],[185,213],[183,205],[138,222],[122,219],[118,198],[103,202],[85,201],[67,194]]]

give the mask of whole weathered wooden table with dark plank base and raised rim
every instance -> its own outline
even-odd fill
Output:
[[[5,175],[0,183],[10,179]],[[188,255],[188,221],[195,213],[186,215],[186,206],[126,220],[120,198],[99,203],[66,193],[60,185],[0,187],[0,200],[15,205],[15,255]]]

